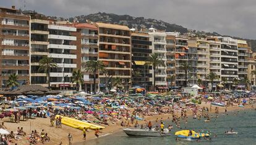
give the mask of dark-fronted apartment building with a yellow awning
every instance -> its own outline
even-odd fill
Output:
[[[132,31],[132,86],[140,86],[150,90],[152,87],[152,66],[145,63],[152,53],[149,35],[147,33]],[[139,74],[139,75],[138,75]]]

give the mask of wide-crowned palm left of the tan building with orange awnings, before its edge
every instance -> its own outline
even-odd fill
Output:
[[[96,88],[97,88],[97,86],[96,86],[96,74],[97,74],[97,72],[100,72],[100,71],[104,72],[105,69],[106,69],[105,65],[100,60],[97,60],[97,61],[90,60],[90,61],[87,61],[85,63],[84,67],[85,67],[85,71],[93,72],[93,86],[94,86],[93,92],[96,94]]]

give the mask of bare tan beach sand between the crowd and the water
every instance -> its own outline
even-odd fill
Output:
[[[200,104],[200,107],[206,106],[210,109],[210,103],[208,104]],[[212,106],[212,111],[214,112],[215,106]],[[249,109],[251,106],[245,106],[245,108],[239,108],[235,106],[228,107],[228,111],[234,111],[234,110],[242,110],[242,109]],[[219,112],[224,112],[224,107],[219,107]],[[221,113],[220,113],[221,114]],[[192,115],[192,112],[189,111],[187,115]],[[161,115],[155,115],[155,116],[146,116],[144,119],[147,121],[155,122],[156,118],[160,120],[163,118],[163,120],[168,119],[168,117],[171,118],[171,114],[161,114]],[[7,121],[8,118],[3,119],[2,121]],[[139,124],[146,124],[147,121],[139,121]],[[11,123],[11,122],[5,122],[4,125],[6,125],[7,130],[9,131],[17,131],[17,127],[23,127],[23,130],[28,134],[32,130],[36,130],[39,133],[42,129],[45,130],[45,133],[48,133],[48,136],[50,137],[51,141],[49,143],[45,144],[59,144],[62,142],[62,144],[68,144],[67,135],[68,133],[71,133],[73,136],[72,143],[81,143],[84,142],[82,130],[78,130],[72,127],[68,127],[66,125],[62,125],[62,128],[55,128],[55,127],[49,127],[49,118],[43,119],[43,118],[36,118],[36,119],[29,119],[28,121],[20,121],[20,123]],[[117,131],[120,131],[122,127],[120,124],[117,125],[109,125],[105,126],[106,128],[102,130],[102,133],[100,133],[100,136],[108,135],[109,133],[116,133]],[[87,140],[90,141],[90,139],[95,139],[94,131],[89,130],[87,133]],[[26,137],[22,137],[22,139],[15,141],[17,144],[28,144],[28,141]]]

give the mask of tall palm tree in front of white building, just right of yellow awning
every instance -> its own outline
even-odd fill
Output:
[[[164,61],[158,58],[158,55],[156,53],[153,53],[150,55],[150,57],[147,60],[147,63],[145,65],[151,65],[153,68],[153,80],[154,80],[154,91],[156,90],[156,73],[155,70],[158,69],[159,66],[165,66]]]

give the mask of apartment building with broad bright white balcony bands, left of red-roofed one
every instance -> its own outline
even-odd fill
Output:
[[[64,26],[50,22],[48,25],[48,51],[49,57],[53,58],[58,68],[51,69],[50,80],[51,87],[56,89],[70,89],[73,87],[71,81],[72,72],[77,68],[75,60],[77,59],[77,46],[72,45],[77,37],[71,36],[71,33],[77,31],[72,26]]]

